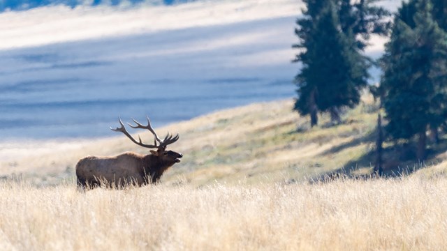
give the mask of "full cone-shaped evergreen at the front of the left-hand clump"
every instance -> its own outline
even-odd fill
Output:
[[[309,32],[312,45],[303,55],[306,64],[297,80],[300,96],[307,91],[313,95],[299,98],[295,109],[307,114],[311,112],[309,102],[314,102],[319,111],[330,112],[332,120],[339,122],[339,108],[354,107],[360,101],[360,89],[367,83],[367,67],[362,64],[364,58],[353,50],[356,40],[352,33],[346,36],[341,31],[333,4],[329,2],[321,10]]]

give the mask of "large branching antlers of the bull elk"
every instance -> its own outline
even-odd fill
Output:
[[[142,146],[142,147],[146,147],[146,148],[158,148],[158,149],[165,149],[166,146],[168,146],[168,144],[173,144],[174,142],[176,142],[179,139],[179,135],[177,133],[177,135],[173,136],[173,135],[166,135],[166,137],[161,140],[157,135],[156,132],[154,131],[154,128],[152,128],[151,126],[151,121],[149,120],[149,116],[146,115],[147,118],[147,126],[143,126],[141,123],[139,123],[138,121],[135,121],[135,119],[132,119],[133,122],[135,122],[137,125],[136,126],[132,126],[130,123],[127,123],[129,126],[131,126],[131,128],[140,128],[140,129],[147,129],[150,132],[152,132],[152,134],[154,135],[155,139],[154,139],[154,144],[144,144],[141,141],[140,136],[138,135],[138,141],[136,139],[134,139],[129,132],[127,132],[126,128],[124,127],[124,123],[121,121],[121,118],[119,118],[119,124],[121,125],[119,128],[113,129],[110,128],[111,130],[114,130],[115,132],[122,132],[124,133],[124,135],[126,135],[127,137],[129,137],[129,139],[131,139],[131,141],[135,144],[138,144],[138,146]],[[157,142],[159,142],[159,145],[157,146]]]

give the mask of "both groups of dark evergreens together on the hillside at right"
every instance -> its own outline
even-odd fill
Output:
[[[377,1],[307,0],[295,33],[302,64],[295,77],[295,109],[311,116],[329,112],[340,123],[339,111],[355,107],[367,87],[367,70],[374,63],[364,54],[369,36],[390,41],[379,60],[383,75],[371,88],[386,112],[388,139],[416,139],[417,158],[426,157],[427,132],[436,142],[447,128],[447,1],[410,0],[390,22]],[[373,86],[369,86],[373,87]]]

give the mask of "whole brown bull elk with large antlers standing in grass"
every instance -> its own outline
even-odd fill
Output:
[[[131,128],[147,129],[154,135],[154,144],[144,144],[138,136],[138,141],[134,139],[129,132],[127,132],[121,118],[119,118],[119,128],[110,128],[115,132],[122,132],[129,137],[131,141],[138,146],[142,146],[150,150],[150,154],[141,155],[138,153],[126,152],[112,157],[97,157],[88,156],[78,161],[76,165],[76,177],[78,180],[78,187],[91,188],[99,185],[106,185],[107,187],[122,188],[126,185],[147,185],[148,183],[157,183],[163,172],[175,163],[180,162],[183,157],[182,153],[175,151],[166,151],[166,146],[173,144],[179,139],[179,135],[168,135],[162,140],[157,135],[151,126],[149,116],[147,117],[147,126],[143,126],[135,119],[136,126],[131,125]]]

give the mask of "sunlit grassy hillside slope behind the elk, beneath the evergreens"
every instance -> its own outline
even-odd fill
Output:
[[[166,172],[163,182],[204,185],[224,183],[272,183],[300,181],[331,172],[368,174],[374,165],[376,105],[364,98],[362,105],[344,114],[346,123],[309,128],[307,117],[292,111],[292,100],[265,102],[227,109],[191,121],[157,129],[179,132],[170,149],[184,159]],[[114,125],[111,125],[114,126]],[[139,132],[144,140],[152,135]],[[0,144],[0,176],[21,176],[36,184],[74,181],[76,162],[86,155],[117,155],[124,151],[145,153],[124,135],[81,141],[3,142]],[[425,175],[443,174],[447,160],[445,140],[429,149],[430,169]],[[396,151],[385,151],[385,172],[422,167]],[[406,150],[410,151],[411,150]],[[411,155],[411,153],[410,153]]]

